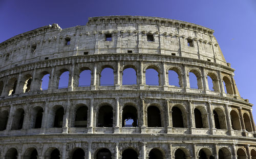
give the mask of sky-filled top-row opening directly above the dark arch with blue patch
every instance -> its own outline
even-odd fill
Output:
[[[137,74],[133,68],[126,68],[123,70],[122,85],[137,84]]]

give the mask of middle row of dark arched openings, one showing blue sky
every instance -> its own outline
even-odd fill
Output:
[[[69,127],[88,127],[90,124],[90,116],[89,107],[84,104],[77,104],[72,109],[72,113],[68,118],[71,123]],[[25,120],[25,110],[23,108],[17,108],[13,114],[12,122],[10,129],[11,130],[19,130],[22,128],[41,128],[42,121],[45,118],[46,128],[61,128],[64,126],[65,115],[67,110],[64,109],[61,105],[55,105],[49,109],[47,113],[44,113],[44,109],[40,106],[35,106],[32,108],[30,113],[26,113],[27,123],[29,123],[26,127],[23,126]],[[141,117],[141,111],[137,109],[137,107],[133,104],[125,104],[121,110],[120,120],[122,127],[139,127],[143,126],[143,119],[146,121],[147,127],[165,127],[165,119],[168,115],[165,115],[163,112],[163,108],[159,105],[150,105],[146,107],[145,117]],[[94,117],[96,119],[95,127],[114,127],[114,107],[111,104],[103,103],[97,110],[94,112]],[[176,128],[188,128],[190,121],[187,115],[186,107],[182,104],[176,104],[170,109],[170,123],[171,127]],[[231,128],[233,130],[242,130],[242,125],[244,123],[245,129],[248,132],[253,132],[253,123],[247,112],[243,113],[243,118],[241,120],[239,113],[232,109],[230,111],[230,119],[225,114],[225,111],[221,107],[216,107],[212,110],[212,121],[214,121],[214,128],[216,129],[228,129],[227,120],[231,121]],[[0,112],[0,131],[3,131],[7,128],[9,118],[9,111],[3,110]],[[196,106],[193,109],[193,119],[195,123],[195,128],[210,128],[208,123],[208,113],[207,110],[203,106]],[[118,119],[119,120],[119,119]],[[93,121],[92,121],[93,122]],[[93,126],[91,124],[91,126]]]

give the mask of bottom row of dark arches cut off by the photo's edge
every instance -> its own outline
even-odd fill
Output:
[[[220,159],[231,159],[232,155],[230,150],[227,147],[222,147],[218,150],[218,158]],[[208,158],[215,158],[215,155],[212,154],[211,149],[209,148],[201,148],[198,152],[197,152],[197,158],[200,159],[208,159]],[[250,155],[251,158],[255,158],[256,157],[256,150],[255,149],[251,149],[250,150]],[[6,159],[17,159],[18,156],[18,151],[16,148],[10,148],[6,154],[5,154],[5,158]],[[38,156],[38,152],[36,150],[36,148],[31,147],[28,148],[24,155],[23,158],[25,159],[37,159]],[[138,151],[134,148],[126,148],[121,152],[121,156],[122,159],[138,159],[139,158],[139,154]],[[174,152],[174,157],[175,159],[185,159],[185,158],[190,158],[191,156],[191,152],[186,149],[185,147],[180,147],[177,148]],[[236,156],[237,158],[247,158],[247,153],[246,150],[244,150],[244,148],[238,148],[237,152],[236,152]],[[51,147],[46,151],[45,154],[45,158],[46,159],[60,159],[61,158],[61,153],[59,151],[58,148],[54,148]],[[82,148],[76,147],[73,150],[70,151],[69,159],[84,159],[87,158],[85,151]],[[108,148],[99,148],[98,150],[96,150],[95,154],[94,154],[94,158],[96,159],[112,159],[113,158],[113,154],[111,153],[111,151]],[[148,153],[148,158],[149,159],[163,159],[166,158],[166,155],[164,153],[164,151],[160,148],[152,148],[150,150],[150,152]]]

